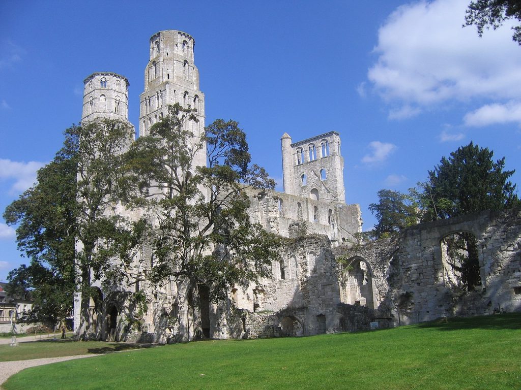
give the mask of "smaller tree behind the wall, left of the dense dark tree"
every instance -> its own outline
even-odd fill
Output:
[[[378,203],[369,204],[378,224],[374,228],[377,238],[400,232],[417,223],[417,207],[412,198],[400,191],[382,189],[378,191]]]

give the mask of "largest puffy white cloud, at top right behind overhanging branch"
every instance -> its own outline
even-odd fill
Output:
[[[462,28],[467,6],[468,0],[403,5],[379,29],[378,59],[367,76],[384,100],[403,106],[390,119],[450,100],[521,98],[513,22],[479,38],[475,28]]]

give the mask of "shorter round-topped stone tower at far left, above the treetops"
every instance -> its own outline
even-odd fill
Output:
[[[113,72],[96,72],[83,80],[82,121],[97,118],[128,121],[129,82]]]

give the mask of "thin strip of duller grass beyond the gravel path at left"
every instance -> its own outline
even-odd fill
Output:
[[[47,357],[105,354],[126,349],[143,348],[138,344],[106,343],[103,341],[74,341],[72,339],[43,339],[19,343],[16,347],[0,345],[0,361],[39,359]]]

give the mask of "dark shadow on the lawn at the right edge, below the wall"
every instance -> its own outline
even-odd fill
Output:
[[[495,314],[480,317],[446,317],[436,321],[420,323],[418,328],[436,328],[438,330],[461,329],[521,329],[521,313]]]

